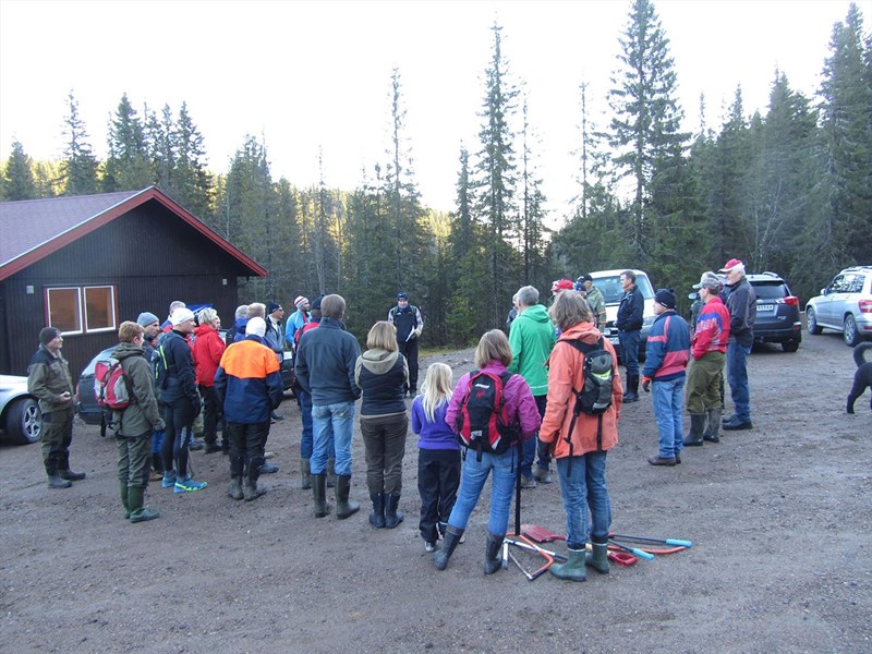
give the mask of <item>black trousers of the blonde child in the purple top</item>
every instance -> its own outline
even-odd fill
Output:
[[[421,495],[421,537],[434,543],[445,535],[460,487],[460,450],[420,449],[417,492]]]

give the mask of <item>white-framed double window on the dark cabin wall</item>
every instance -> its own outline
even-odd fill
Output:
[[[113,286],[46,289],[49,325],[64,335],[109,331],[117,328]]]

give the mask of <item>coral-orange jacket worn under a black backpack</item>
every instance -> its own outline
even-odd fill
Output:
[[[584,354],[570,344],[560,341],[581,339],[585,343],[595,343],[602,336],[593,323],[579,323],[573,325],[557,339],[557,344],[548,356],[548,403],[545,417],[538,431],[540,440],[549,445],[556,459],[569,456],[569,444],[566,435],[569,423],[572,421],[572,409],[576,405],[573,389],[580,389],[584,384]],[[618,417],[620,405],[623,402],[623,389],[620,385],[618,372],[618,356],[615,348],[603,337],[604,348],[611,353],[611,366],[615,372],[611,387],[611,407],[603,415],[602,449],[609,450],[618,444]],[[595,451],[596,429],[598,424],[596,415],[580,413],[571,436],[572,456],[580,457],[590,451]]]

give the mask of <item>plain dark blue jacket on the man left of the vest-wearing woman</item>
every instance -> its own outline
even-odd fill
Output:
[[[294,371],[300,386],[312,396],[313,404],[353,402],[361,397],[354,380],[354,364],[360,354],[358,339],[335,318],[323,317],[317,329],[300,338]]]

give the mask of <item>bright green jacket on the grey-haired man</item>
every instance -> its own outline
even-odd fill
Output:
[[[511,324],[511,365],[508,370],[526,380],[534,397],[548,395],[545,362],[556,341],[548,312],[541,304],[528,306]]]

